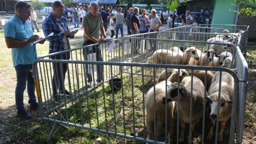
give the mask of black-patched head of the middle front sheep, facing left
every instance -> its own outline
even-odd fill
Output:
[[[168,85],[167,98],[163,97],[162,103],[166,104],[166,102],[168,103],[171,101],[178,101],[178,98],[180,98],[179,96],[180,94],[186,95],[186,91],[183,89],[183,85],[179,83],[179,87],[178,87],[178,82],[171,83],[170,85]]]

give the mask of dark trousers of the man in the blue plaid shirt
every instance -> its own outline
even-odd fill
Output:
[[[51,59],[69,59],[69,54],[59,54],[59,55],[54,55],[50,56]],[[53,94],[57,94],[57,90],[59,89],[60,91],[64,91],[64,82],[65,82],[65,75],[67,72],[67,64],[65,63],[52,63],[54,67],[54,76],[52,77],[52,90]],[[62,77],[62,76],[63,77]],[[63,85],[62,85],[63,84]]]

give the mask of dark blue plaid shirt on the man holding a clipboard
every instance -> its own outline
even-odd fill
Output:
[[[59,20],[64,24],[63,29],[68,30],[67,20],[64,17],[60,17]],[[49,54],[64,51],[64,42],[62,38],[65,37],[65,35],[60,31],[59,22],[55,19],[54,15],[50,14],[46,17],[44,22],[42,22],[42,31],[44,31],[45,37],[51,32],[54,32],[54,35],[47,39],[49,41]],[[70,49],[69,40],[67,39],[67,41],[68,49]]]

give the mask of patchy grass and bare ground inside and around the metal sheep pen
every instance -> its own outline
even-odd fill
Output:
[[[43,36],[42,32],[35,32],[40,36]],[[83,31],[80,30],[77,35],[76,39],[70,39],[71,49],[81,46],[82,45],[82,34]],[[16,117],[16,108],[15,108],[15,87],[16,87],[16,73],[15,68],[12,64],[12,56],[11,50],[7,49],[3,31],[0,31],[0,143],[46,143],[48,135],[50,133],[51,127],[54,123],[42,121],[39,118],[39,114],[35,111],[31,111],[30,109],[26,108],[29,112],[35,115],[35,118],[30,120],[22,120]],[[49,42],[45,42],[45,44],[38,44],[37,45],[37,54],[38,56],[48,54],[48,45]],[[254,88],[256,85],[256,45],[251,44],[248,45],[248,50],[252,54],[248,54],[247,61],[249,64],[249,76],[248,76],[248,94],[247,94],[247,106],[246,106],[246,117],[245,117],[245,124],[244,124],[244,134],[243,134],[243,142],[244,143],[255,143],[256,142],[256,97]],[[144,87],[145,92],[151,88],[154,84],[149,78],[145,78],[144,86],[142,86],[142,78],[141,77],[134,77],[134,87],[132,88],[131,82],[128,82],[129,75],[124,74],[124,111],[125,117],[129,117],[126,119],[126,134],[127,135],[138,135],[143,137],[143,106],[142,106],[142,89]],[[75,114],[69,117],[69,121],[77,121],[80,123],[85,123],[88,125],[88,115],[91,115],[92,119],[92,127],[97,126],[97,117],[95,116],[95,109],[90,109],[88,111],[86,107],[86,103],[90,103],[90,105],[95,105],[95,97],[99,97],[97,100],[98,102],[98,112],[103,114],[99,115],[99,123],[100,126],[104,126],[105,117],[104,117],[104,99],[102,99],[102,87],[97,88],[94,92],[89,93],[88,97],[81,97],[81,105],[78,101],[74,101],[74,104],[67,105],[67,108],[62,109],[62,113],[66,113],[66,110],[69,113],[72,113],[72,108],[76,107]],[[131,91],[134,91],[134,97],[132,97]],[[108,123],[110,124],[109,129],[113,130],[114,119],[113,115],[116,115],[116,124],[117,124],[117,131],[120,133],[123,132],[123,125],[122,125],[122,102],[123,99],[120,97],[122,95],[122,91],[118,91],[115,95],[112,95],[110,87],[108,84],[104,87],[105,90],[105,102],[106,102],[106,119],[108,119]],[[114,98],[114,100],[113,100]],[[133,127],[133,117],[132,117],[132,104],[133,101],[135,102],[135,127]],[[28,107],[28,96],[25,90],[24,93],[24,103],[25,107]],[[81,108],[80,108],[81,107]],[[116,111],[113,111],[113,107],[115,107]],[[83,121],[79,119],[83,114]],[[52,115],[50,115],[52,116]],[[76,119],[76,120],[75,120]],[[102,124],[102,125],[101,125]],[[199,123],[201,126],[201,123]],[[209,125],[209,124],[206,124]],[[200,142],[201,137],[201,127],[195,127],[194,133],[194,143]],[[176,128],[177,126],[175,126]],[[134,128],[136,129],[137,133],[133,133]],[[188,126],[186,126],[188,130]],[[92,132],[86,129],[79,129],[68,126],[68,129],[57,125],[58,129],[52,140],[52,143],[141,143],[129,139],[124,139],[120,137],[109,136],[101,133]],[[228,128],[227,128],[228,129]],[[205,137],[207,137],[208,129],[205,130]],[[138,132],[139,131],[139,132]],[[228,131],[224,130],[223,139],[228,139]],[[187,135],[185,132],[185,135]],[[21,136],[22,135],[22,136]],[[215,134],[214,134],[215,135]],[[225,138],[226,136],[226,138]],[[176,132],[175,136],[176,139]],[[186,138],[185,138],[186,140]],[[212,142],[212,141],[211,141]],[[226,141],[227,142],[227,141]],[[224,142],[225,143],[225,142]]]

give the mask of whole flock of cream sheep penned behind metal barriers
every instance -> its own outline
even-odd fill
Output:
[[[224,44],[207,44],[205,53],[202,53],[202,49],[200,50],[193,46],[188,47],[184,52],[178,47],[172,47],[170,50],[157,50],[152,56],[152,61],[155,64],[222,66],[232,68],[232,54],[235,50],[233,50],[231,44],[236,44],[240,32],[229,33],[228,30],[224,30],[223,32],[223,34],[209,39],[208,42]],[[238,37],[234,37],[233,35],[237,35]],[[232,70],[236,71],[236,69]],[[222,72],[221,81],[219,81],[219,71],[208,70],[206,73],[205,70],[193,70],[193,74],[191,73],[192,70],[188,69],[168,68],[158,76],[158,83],[147,91],[145,106],[148,139],[159,140],[161,137],[165,126],[165,104],[167,104],[168,142],[172,143],[173,141],[175,110],[179,112],[179,121],[181,124],[179,141],[183,142],[185,123],[189,124],[190,122],[190,108],[192,109],[192,135],[195,124],[201,119],[204,113],[205,98],[209,102],[211,111],[210,130],[207,138],[212,138],[212,131],[218,115],[218,119],[221,122],[218,141],[222,141],[225,123],[231,117],[232,112],[234,79],[229,73]],[[220,83],[221,85],[219,86]],[[192,100],[191,106],[190,100]],[[177,106],[178,103],[179,106]],[[154,116],[156,116],[156,121],[154,121]],[[156,126],[155,130],[154,123]],[[155,138],[154,135],[156,136]],[[192,136],[188,136],[188,138],[192,138]]]

